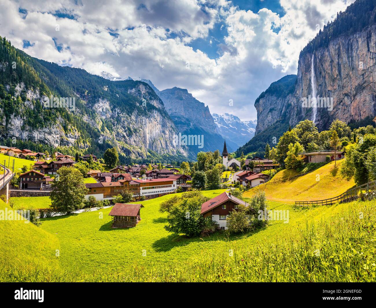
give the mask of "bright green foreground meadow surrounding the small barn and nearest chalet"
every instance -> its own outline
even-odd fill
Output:
[[[164,230],[166,214],[158,208],[165,198],[144,201],[142,220],[130,229],[112,229],[109,208],[42,219],[38,231],[60,242],[59,268],[18,271],[35,281],[376,280],[376,201],[311,208],[269,201],[268,208],[289,211],[288,223],[188,239]]]

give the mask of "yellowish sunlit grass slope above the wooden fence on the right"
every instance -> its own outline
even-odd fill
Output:
[[[347,181],[340,175],[340,166],[343,161],[328,163],[301,177],[294,169],[284,169],[278,172],[267,183],[257,186],[244,193],[244,196],[252,196],[256,190],[265,192],[267,199],[285,203],[294,201],[310,201],[332,198],[355,186],[353,180]]]

